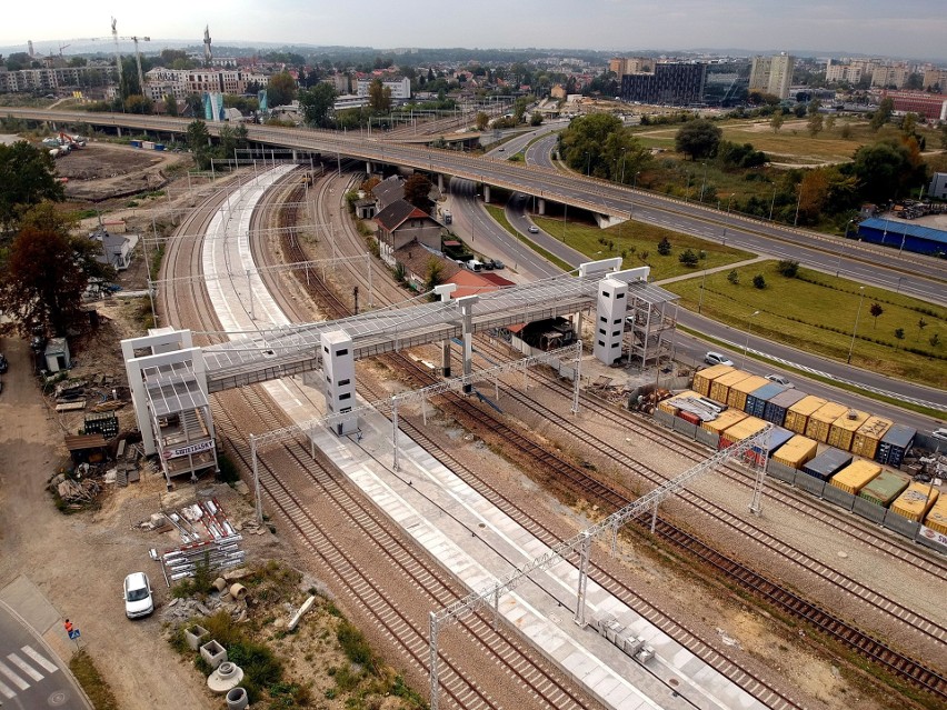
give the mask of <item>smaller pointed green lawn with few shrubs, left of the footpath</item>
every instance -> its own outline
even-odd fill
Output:
[[[548,217],[534,217],[534,221],[545,232],[561,239],[562,220]],[[672,232],[661,227],[645,224],[629,220],[620,227],[599,229],[591,224],[566,222],[566,243],[590,259],[609,259],[622,257],[622,267],[630,269],[641,267],[646,263],[651,267],[651,280],[667,279],[668,277],[689,273],[697,269],[712,269],[728,263],[736,263],[752,259],[755,254],[740,249],[722,247],[715,242],[705,241],[697,237],[688,237]],[[658,242],[667,237],[671,242],[670,256],[662,257],[658,253]],[[704,251],[705,258],[700,260],[697,269],[689,269],[678,261],[678,256],[691,249],[697,253]],[[647,252],[647,259],[642,259]]]

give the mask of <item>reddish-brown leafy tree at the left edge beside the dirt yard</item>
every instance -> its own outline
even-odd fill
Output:
[[[22,334],[41,326],[64,336],[84,313],[82,293],[90,281],[114,278],[114,269],[97,261],[102,248],[72,237],[70,224],[51,202],[23,216],[0,277],[0,310]]]

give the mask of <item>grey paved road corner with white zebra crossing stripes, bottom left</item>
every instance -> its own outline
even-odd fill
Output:
[[[69,670],[0,602],[0,706],[3,710],[90,710]]]

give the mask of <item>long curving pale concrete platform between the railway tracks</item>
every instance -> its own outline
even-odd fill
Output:
[[[205,242],[203,264],[208,276],[228,270],[246,273],[255,268],[247,241],[248,207],[275,181],[276,173],[285,171],[286,168],[281,168],[267,173],[255,184],[245,187],[239,197],[231,198],[232,204],[241,201],[241,209],[231,211],[235,219],[226,219],[220,213],[219,220],[215,218],[213,237]],[[228,331],[288,323],[262,284],[258,288],[253,282],[257,278],[208,280],[212,302]],[[311,379],[318,381],[318,378]],[[301,379],[268,382],[263,387],[293,421],[302,422],[323,414],[318,411],[322,407],[312,406],[312,402],[321,404],[325,401],[321,392],[305,386]],[[564,407],[567,406],[564,401]],[[313,441],[380,510],[471,591],[490,587],[497,577],[547,551],[541,541],[497,510],[403,432],[399,433],[401,470],[393,471],[391,423],[380,413],[361,417],[360,428],[359,441],[340,439],[325,429],[315,434]],[[604,552],[594,548],[592,553]],[[656,656],[641,664],[591,627],[579,628],[574,622],[577,581],[577,568],[562,561],[501,597],[499,613],[508,628],[529,639],[606,707],[622,710],[766,707],[614,598],[594,579],[588,582],[586,620],[611,614],[618,623],[654,647]]]

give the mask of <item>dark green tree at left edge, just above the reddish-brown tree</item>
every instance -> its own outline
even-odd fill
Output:
[[[22,140],[0,144],[0,228],[16,229],[22,212],[43,200],[61,202],[64,191],[54,173],[46,150]]]

